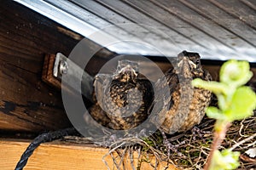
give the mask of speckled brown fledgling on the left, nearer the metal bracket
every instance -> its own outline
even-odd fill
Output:
[[[148,118],[154,100],[151,82],[138,72],[137,62],[120,60],[113,75],[98,74],[95,82],[96,105],[90,115],[105,127],[126,130]]]

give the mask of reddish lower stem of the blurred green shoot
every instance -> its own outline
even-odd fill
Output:
[[[219,132],[214,132],[214,137],[213,137],[213,143],[212,143],[212,148],[210,151],[210,154],[208,156],[207,159],[207,163],[206,166],[204,167],[204,170],[208,170],[211,163],[212,163],[212,156],[215,150],[218,150],[218,147],[220,146],[220,144],[223,142],[226,132],[229,129],[231,123],[227,122],[223,125],[223,127],[218,127],[219,129],[221,129]]]

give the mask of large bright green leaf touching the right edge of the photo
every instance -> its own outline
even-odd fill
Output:
[[[224,111],[224,115],[233,122],[253,115],[256,107],[256,95],[249,87],[243,86],[236,89],[230,102],[230,107]]]

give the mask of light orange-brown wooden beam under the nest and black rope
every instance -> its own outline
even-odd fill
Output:
[[[19,161],[21,154],[26,150],[28,141],[19,141],[13,139],[0,139],[0,167],[2,170],[14,169]],[[102,157],[108,153],[108,149],[93,147],[89,144],[67,144],[53,142],[41,144],[34,151],[24,169],[107,169],[102,161]],[[116,156],[116,155],[114,155]],[[134,165],[137,165],[137,153],[133,154]],[[127,158],[125,158],[127,159]],[[113,160],[107,156],[105,161],[113,169]],[[154,161],[154,157],[149,158]],[[131,168],[131,161],[125,160],[125,169]],[[163,169],[165,163],[160,163],[158,169]],[[115,169],[115,168],[114,168]],[[123,169],[123,168],[121,168]],[[148,163],[143,162],[141,169],[154,169]],[[177,169],[169,165],[168,169]]]

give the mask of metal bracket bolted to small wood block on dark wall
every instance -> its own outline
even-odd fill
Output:
[[[94,78],[61,53],[45,56],[42,78],[56,88],[72,88],[92,101]]]

